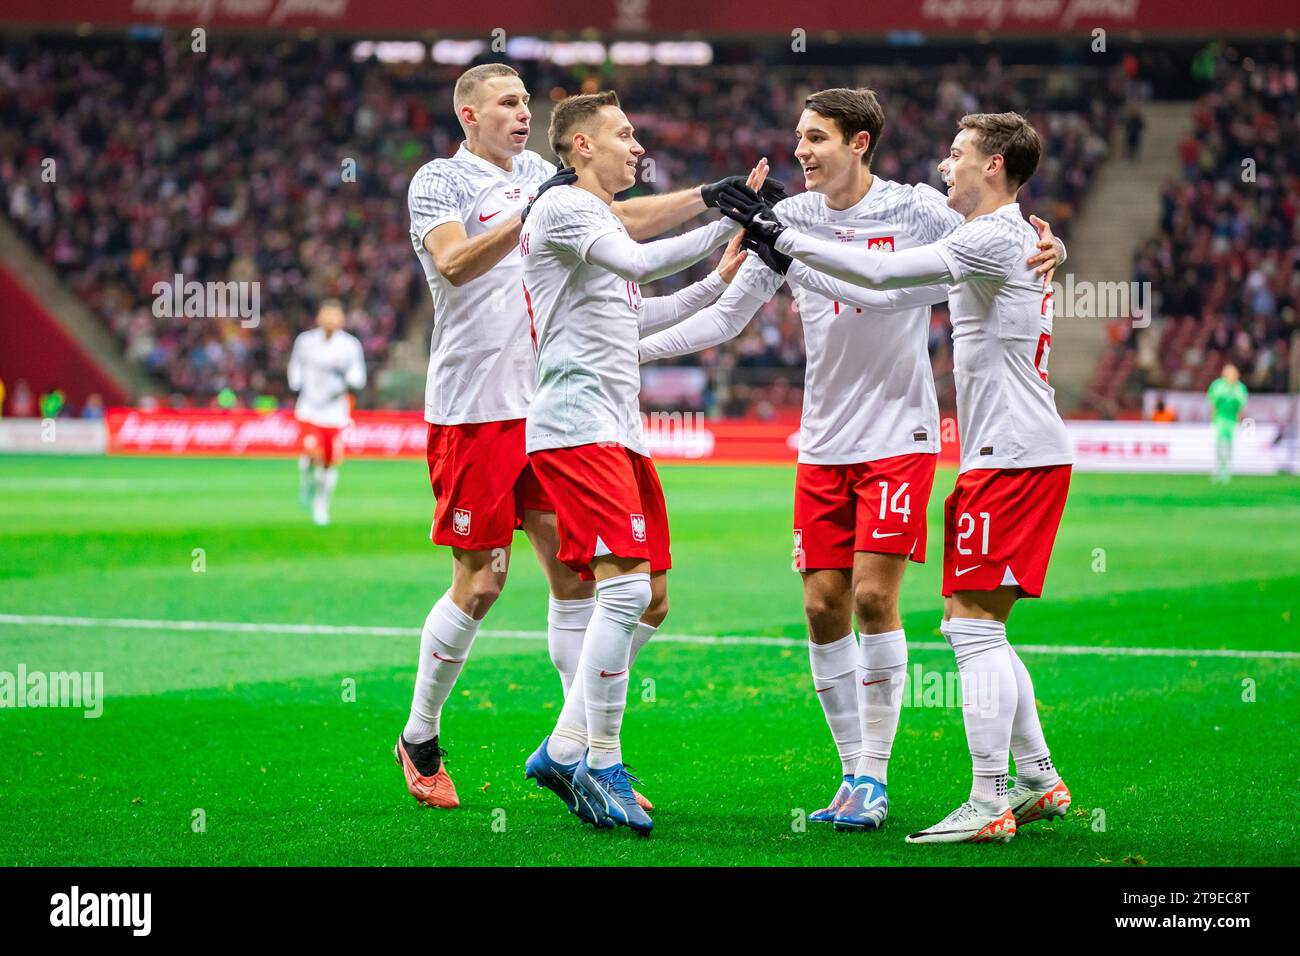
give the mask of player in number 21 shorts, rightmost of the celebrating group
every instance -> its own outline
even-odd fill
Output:
[[[962,225],[890,255],[784,228],[760,206],[724,206],[753,241],[837,278],[878,291],[952,285],[962,458],[944,506],[941,630],[962,675],[974,783],[967,801],[909,843],[1006,843],[1018,826],[1070,806],[1030,674],[1006,640],[1015,601],[1043,593],[1070,488],[1070,441],[1046,371],[1052,286],[1026,264],[1037,235],[1015,200],[1040,155],[1037,131],[1018,113],[962,117],[939,165]]]

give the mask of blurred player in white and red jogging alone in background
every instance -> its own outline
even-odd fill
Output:
[[[343,460],[342,433],[352,421],[348,393],[365,388],[365,351],[356,336],[343,330],[343,303],[338,299],[322,302],[316,328],[294,339],[289,388],[298,393],[294,418],[303,433],[299,501],[311,507],[312,522],[325,525]]]

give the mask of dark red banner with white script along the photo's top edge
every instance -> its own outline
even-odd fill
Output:
[[[1222,34],[1300,26],[1294,0],[5,0],[0,22],[75,26],[164,25],[240,30],[334,30],[410,36],[419,31],[488,36],[595,29],[610,34],[681,35],[818,33],[880,36],[930,34],[1091,35],[1104,30]]]

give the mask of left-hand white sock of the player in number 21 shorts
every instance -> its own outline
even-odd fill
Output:
[[[962,718],[974,771],[971,800],[1005,804],[1017,695],[1006,626],[997,620],[952,618],[940,631],[957,654],[962,676]]]

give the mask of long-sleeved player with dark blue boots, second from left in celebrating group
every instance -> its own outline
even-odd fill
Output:
[[[528,458],[555,505],[558,558],[595,580],[595,611],[554,732],[525,775],[601,827],[653,827],[637,805],[619,732],[628,671],[668,613],[668,514],[641,428],[637,339],[686,315],[748,311],[762,299],[703,280],[642,299],[638,284],[680,272],[736,235],[719,220],[638,245],[610,208],[636,181],[644,150],[614,92],[571,96],[551,114],[550,140],[577,174],[533,206],[520,233],[524,295],[537,342]],[[751,174],[758,185],[766,163]],[[729,189],[723,186],[723,191]],[[712,196],[710,196],[712,198]]]

